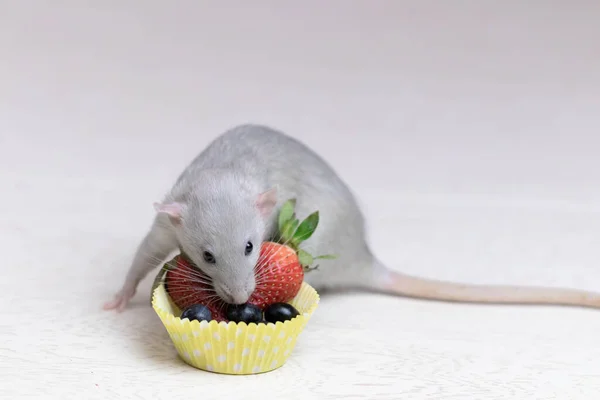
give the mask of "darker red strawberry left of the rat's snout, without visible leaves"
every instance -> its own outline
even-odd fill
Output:
[[[226,321],[225,303],[217,297],[210,278],[181,254],[170,264],[165,273],[164,284],[173,303],[181,310],[194,304],[202,304],[210,309],[214,320]]]

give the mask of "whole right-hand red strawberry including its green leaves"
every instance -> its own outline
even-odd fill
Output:
[[[289,200],[279,211],[279,241],[265,242],[260,248],[260,257],[255,268],[256,289],[249,303],[261,309],[273,303],[288,302],[302,286],[304,271],[318,258],[300,249],[300,244],[312,236],[319,223],[319,212],[315,211],[302,222],[296,219],[295,200]]]

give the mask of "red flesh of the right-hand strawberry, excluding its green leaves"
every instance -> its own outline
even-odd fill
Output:
[[[304,267],[291,247],[265,242],[255,269],[256,289],[248,303],[261,309],[293,299],[304,280]]]

